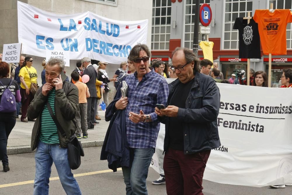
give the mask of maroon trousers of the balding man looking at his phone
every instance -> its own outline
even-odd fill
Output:
[[[194,154],[168,148],[163,169],[168,195],[203,194],[202,182],[211,150]]]

